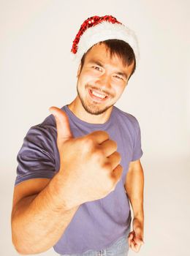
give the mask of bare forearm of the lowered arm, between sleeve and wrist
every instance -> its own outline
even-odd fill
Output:
[[[126,194],[132,205],[134,218],[144,220],[143,210],[144,173],[142,169],[130,170],[126,179]]]

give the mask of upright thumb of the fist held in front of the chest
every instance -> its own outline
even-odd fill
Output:
[[[66,115],[66,113],[57,107],[50,107],[49,110],[53,114],[54,118],[56,119],[58,143],[64,143],[66,140],[73,138],[73,135],[69,126],[69,118]]]

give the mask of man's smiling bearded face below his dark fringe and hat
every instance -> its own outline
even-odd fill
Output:
[[[99,115],[112,107],[126,87],[133,65],[123,66],[118,56],[110,58],[104,44],[94,45],[78,70],[77,94],[83,108]]]

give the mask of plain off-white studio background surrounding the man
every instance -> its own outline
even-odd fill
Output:
[[[92,15],[133,29],[140,64],[118,108],[140,123],[145,173],[142,256],[189,255],[189,1],[0,1],[0,252],[12,246],[16,156],[28,129],[76,96],[72,40]],[[41,255],[56,255],[53,249]],[[136,255],[131,249],[129,256]]]

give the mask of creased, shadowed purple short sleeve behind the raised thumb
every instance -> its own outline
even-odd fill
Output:
[[[17,156],[15,185],[30,178],[53,178],[56,172],[53,137],[40,124],[31,127]]]

